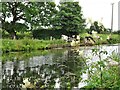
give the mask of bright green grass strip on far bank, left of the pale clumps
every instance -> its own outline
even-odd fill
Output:
[[[67,45],[63,40],[2,39],[0,41],[2,42],[0,48],[3,52],[44,50]]]

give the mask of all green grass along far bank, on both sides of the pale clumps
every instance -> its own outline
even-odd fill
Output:
[[[95,44],[116,44],[120,43],[120,38],[118,34],[112,34],[111,40],[107,40],[107,36],[109,34],[98,34],[102,39],[96,39]],[[81,38],[84,38],[85,34],[80,34]],[[20,40],[11,40],[11,39],[0,39],[2,45],[0,48],[4,52],[11,52],[11,51],[32,51],[32,50],[44,50],[50,48],[57,48],[57,47],[64,47],[69,46],[63,40],[56,39],[56,40],[37,40],[37,39],[20,39]],[[83,39],[81,40],[81,45],[84,46]]]

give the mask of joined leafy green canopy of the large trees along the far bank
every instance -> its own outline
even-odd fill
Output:
[[[0,19],[2,29],[12,38],[17,38],[17,32],[37,28],[57,29],[72,35],[85,26],[78,2],[61,2],[58,7],[54,2],[3,2]]]

